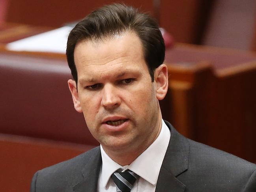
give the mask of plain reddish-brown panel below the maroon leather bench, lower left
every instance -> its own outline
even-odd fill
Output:
[[[0,134],[1,191],[29,191],[36,171],[75,157],[92,147]]]

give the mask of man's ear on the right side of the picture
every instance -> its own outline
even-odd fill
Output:
[[[165,64],[162,64],[155,69],[154,78],[157,99],[162,100],[168,90],[168,69]]]

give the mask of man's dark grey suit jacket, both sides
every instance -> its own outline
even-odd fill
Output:
[[[171,138],[156,192],[256,192],[256,165],[189,140],[166,122]],[[35,173],[31,192],[96,192],[101,170],[96,147]]]

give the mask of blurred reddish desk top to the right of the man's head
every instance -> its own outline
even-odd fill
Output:
[[[241,63],[256,60],[255,52],[183,43],[176,43],[172,49],[166,50],[165,55],[165,62],[167,63],[176,63],[190,68],[201,61],[208,61],[216,70],[239,66]]]

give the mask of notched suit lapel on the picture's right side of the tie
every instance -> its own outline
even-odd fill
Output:
[[[176,177],[188,168],[189,143],[167,121],[171,131],[170,142],[160,169],[156,192],[183,192],[185,185]]]

